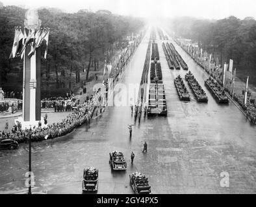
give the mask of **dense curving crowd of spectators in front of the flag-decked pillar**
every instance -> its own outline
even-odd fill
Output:
[[[0,131],[1,140],[10,138],[16,140],[18,143],[27,142],[29,136],[32,141],[45,140],[45,138],[57,138],[64,136],[73,131],[76,127],[82,124],[90,124],[90,120],[94,113],[94,110],[99,105],[100,94],[96,93],[94,96],[90,96],[89,100],[85,100],[84,103],[77,105],[62,122],[57,124],[51,124],[47,127],[21,130],[21,125],[14,125],[12,131]],[[47,122],[47,120],[46,120]],[[40,125],[40,123],[38,124]]]

